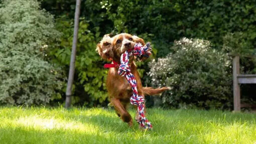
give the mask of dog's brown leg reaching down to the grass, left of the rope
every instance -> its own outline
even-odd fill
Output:
[[[127,122],[129,126],[133,126],[133,119],[130,113],[121,104],[118,98],[112,98],[111,103],[113,104],[116,112],[121,116],[122,121]]]

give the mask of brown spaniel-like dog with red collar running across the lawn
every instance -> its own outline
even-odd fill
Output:
[[[133,48],[135,43],[142,43],[142,45],[145,45],[145,42],[142,38],[128,33],[120,33],[113,37],[110,37],[109,34],[106,34],[97,44],[96,50],[102,58],[111,59],[115,61],[115,63],[119,63],[121,54],[125,50]],[[134,59],[134,56],[130,56],[131,72],[134,74],[137,80],[139,95],[142,95],[145,98],[145,95],[155,95],[170,89],[169,87],[156,89],[152,87],[143,87],[139,72],[137,71],[136,65],[134,63]],[[118,64],[115,64],[115,67],[109,68],[106,87],[110,102],[114,106],[117,115],[124,122],[127,122],[130,126],[132,126],[133,119],[126,109],[127,105],[130,103],[130,97],[133,95],[133,90],[125,77],[118,74]],[[137,111],[137,121],[138,115],[139,113]]]

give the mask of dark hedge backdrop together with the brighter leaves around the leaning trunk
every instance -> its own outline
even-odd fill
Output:
[[[49,51],[52,61],[63,65],[68,72],[75,0],[40,1],[42,8],[55,15],[57,29],[63,33],[59,46]],[[102,68],[105,61],[93,53],[95,44],[105,33],[129,32],[142,36],[152,41],[156,57],[173,52],[170,48],[173,41],[184,36],[210,40],[216,50],[253,54],[256,52],[255,7],[256,0],[82,0],[74,103],[107,103],[103,82],[106,69]],[[241,34],[230,36],[230,32]],[[233,43],[227,48],[228,38]],[[247,50],[237,50],[235,46]],[[253,72],[253,60],[242,58],[241,61],[242,71]],[[147,62],[139,67],[142,75],[149,71]],[[149,76],[143,78],[144,85],[151,83]],[[246,93],[242,91],[247,100],[252,97],[250,93],[255,93],[253,86],[243,88],[247,89]]]

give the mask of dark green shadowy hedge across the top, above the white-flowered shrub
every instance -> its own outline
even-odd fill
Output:
[[[56,17],[65,15],[72,21],[75,1],[42,0],[42,7]],[[211,47],[217,50],[221,50],[224,44],[225,52],[229,52],[230,46],[234,46],[234,44],[230,45],[228,50],[226,40],[239,41],[236,52],[244,52],[245,49],[251,51],[251,48],[256,46],[255,7],[255,0],[82,0],[80,15],[88,23],[88,30],[95,34],[95,27],[98,28],[99,35],[95,35],[96,38],[88,42],[98,42],[98,37],[106,33],[129,32],[150,40],[157,49],[157,57],[163,57],[173,52],[173,49],[169,48],[173,45],[173,41],[184,36],[207,39],[211,41]],[[66,27],[63,28],[58,30],[65,32]],[[235,34],[233,36],[236,38],[230,39],[229,32],[239,33],[239,31],[242,31],[242,34]],[[238,39],[239,37],[242,39]],[[63,40],[65,42],[66,38]],[[255,53],[255,50],[252,52]],[[244,65],[242,70],[247,73],[255,71],[255,69],[252,71],[255,62],[250,59],[247,60],[248,62],[241,61],[241,65]],[[103,61],[100,65],[102,64]],[[149,70],[145,64],[141,68],[146,72]],[[143,70],[140,71],[141,74],[145,73]],[[78,73],[76,77],[77,81]],[[144,76],[142,80],[144,85],[152,83],[148,78]],[[74,90],[84,89],[83,85],[84,83],[81,86],[76,82]],[[104,90],[104,88],[101,86],[93,91],[96,90]],[[88,94],[80,90],[75,93],[80,98]]]

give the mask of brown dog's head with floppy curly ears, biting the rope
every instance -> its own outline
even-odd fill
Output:
[[[145,45],[142,38],[129,33],[120,33],[113,37],[110,37],[110,34],[106,34],[97,44],[96,50],[104,59],[120,61],[121,54],[128,49],[134,48],[136,43]],[[130,57],[130,60],[132,59],[134,59],[133,56]]]

